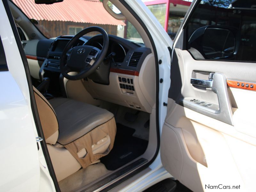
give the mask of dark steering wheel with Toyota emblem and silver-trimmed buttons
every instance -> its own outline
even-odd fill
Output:
[[[71,48],[80,37],[93,31],[100,32],[103,36],[102,50],[89,45]],[[60,57],[61,74],[69,80],[83,79],[92,74],[104,60],[108,51],[108,42],[107,32],[100,27],[88,27],[77,33],[70,39]],[[69,75],[69,72],[77,72],[77,74]]]

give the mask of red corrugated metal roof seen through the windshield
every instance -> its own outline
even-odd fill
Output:
[[[35,4],[34,0],[12,1],[28,18],[36,20],[125,25],[123,21],[113,18],[99,0],[64,0],[55,4]]]

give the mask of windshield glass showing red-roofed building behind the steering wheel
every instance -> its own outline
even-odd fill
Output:
[[[99,26],[109,35],[142,42],[138,31],[125,20],[116,20],[103,7],[100,0],[64,0],[54,4],[35,4],[34,0],[13,0],[29,19],[38,21],[36,27],[47,38],[76,35],[84,28]],[[114,5],[112,9],[119,11]],[[96,14],[95,14],[96,13]],[[35,22],[33,22],[35,24]],[[98,33],[89,33],[94,36]]]

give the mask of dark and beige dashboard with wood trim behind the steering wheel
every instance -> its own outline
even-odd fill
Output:
[[[60,57],[72,37],[59,36],[56,39],[23,41],[27,58],[41,61],[40,70],[37,72],[40,80],[44,78],[45,73],[61,76]],[[102,44],[101,35],[82,36],[75,46],[90,45],[101,50]],[[109,35],[106,58],[113,52],[114,56],[108,60],[109,84],[97,83],[89,76],[82,80],[85,89],[94,99],[151,113],[155,104],[155,60],[151,49],[142,43]],[[71,83],[63,77],[61,81],[61,86],[68,95],[69,90],[72,90]]]

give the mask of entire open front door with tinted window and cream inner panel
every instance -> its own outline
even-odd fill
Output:
[[[195,192],[255,191],[255,48],[249,0],[194,1],[177,33],[161,160]]]

